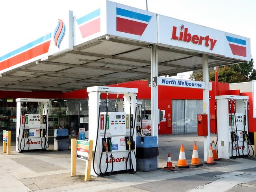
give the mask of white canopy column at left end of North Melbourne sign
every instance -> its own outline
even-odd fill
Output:
[[[158,51],[157,46],[152,45],[151,49],[151,135],[157,137],[158,142],[158,85],[154,86],[153,80],[158,77]]]

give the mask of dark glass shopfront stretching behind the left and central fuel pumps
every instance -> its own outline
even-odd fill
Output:
[[[16,99],[0,99],[0,135],[3,130],[16,133]],[[120,100],[122,101],[122,100]],[[151,120],[151,100],[142,102],[142,119]],[[106,100],[101,100],[101,112],[106,111]],[[115,99],[109,100],[108,111],[115,111]],[[81,118],[83,118],[81,120]],[[54,135],[58,128],[85,128],[88,130],[88,99],[50,99],[48,110],[48,134]]]

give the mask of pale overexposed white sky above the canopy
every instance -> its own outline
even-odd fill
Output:
[[[48,33],[61,11],[87,11],[101,0],[0,1],[0,56]],[[113,0],[146,9],[146,0]],[[250,38],[256,57],[256,0],[148,0],[148,11]],[[256,68],[256,67],[255,67]]]

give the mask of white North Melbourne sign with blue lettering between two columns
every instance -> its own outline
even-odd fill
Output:
[[[158,77],[157,82],[158,82],[158,85],[205,89],[205,82],[203,81],[190,81],[190,80],[183,80],[183,79]]]

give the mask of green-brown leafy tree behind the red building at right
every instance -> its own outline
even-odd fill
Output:
[[[202,81],[202,73],[193,73],[190,75],[191,80]],[[219,82],[239,83],[252,81],[256,79],[256,70],[253,68],[253,58],[250,62],[222,66],[218,70]],[[215,71],[209,71],[209,81],[215,80]]]

